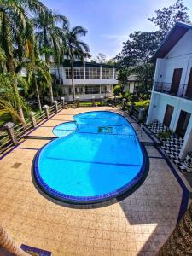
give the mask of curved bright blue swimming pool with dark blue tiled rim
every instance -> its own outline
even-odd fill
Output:
[[[46,194],[89,203],[121,195],[143,177],[145,158],[131,124],[118,113],[80,113],[55,127],[38,151],[34,177]]]

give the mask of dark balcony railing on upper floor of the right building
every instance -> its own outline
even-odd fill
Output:
[[[188,90],[188,84],[179,84],[177,87],[172,83],[155,82],[154,91],[192,100],[192,90]]]

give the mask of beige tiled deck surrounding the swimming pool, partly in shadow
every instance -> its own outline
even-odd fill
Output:
[[[30,136],[54,137],[52,129],[85,111],[117,108],[63,109]],[[127,117],[138,130],[137,123]],[[0,224],[18,244],[52,255],[154,255],[177,223],[183,189],[153,145],[148,177],[123,201],[99,208],[63,207],[47,200],[32,183],[32,160],[46,139],[26,139],[0,160]]]

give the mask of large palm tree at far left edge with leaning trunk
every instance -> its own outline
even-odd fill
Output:
[[[12,76],[18,113],[24,123],[25,118],[18,90],[18,76],[15,75],[15,61],[25,57],[26,42],[32,41],[32,21],[27,13],[43,13],[46,10],[44,4],[38,0],[1,0],[0,3],[0,48],[3,49],[6,56],[6,68]]]

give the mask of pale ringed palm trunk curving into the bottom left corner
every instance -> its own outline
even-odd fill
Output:
[[[17,256],[29,256],[30,254],[24,252],[20,247],[15,243],[15,241],[3,230],[3,227],[0,226],[0,246],[5,248],[9,253],[14,253]]]

